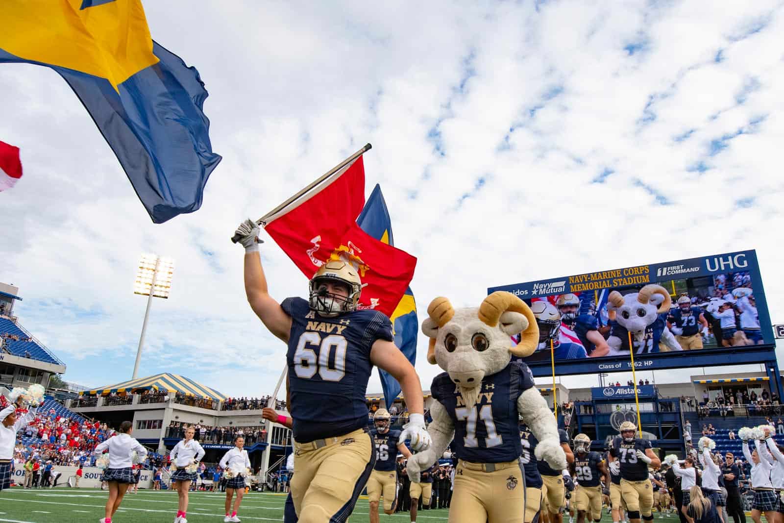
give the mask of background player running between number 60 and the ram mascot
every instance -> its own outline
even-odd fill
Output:
[[[400,430],[390,429],[392,416],[387,409],[378,409],[373,415],[376,426],[370,431],[376,444],[376,466],[368,479],[370,523],[379,523],[379,499],[384,496],[384,514],[394,514],[397,504],[397,452],[405,458],[411,452],[400,440]]]

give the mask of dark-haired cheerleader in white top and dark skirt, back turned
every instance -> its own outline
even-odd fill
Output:
[[[141,460],[147,456],[147,449],[140,445],[139,441],[131,438],[132,427],[133,423],[123,421],[120,425],[120,434],[103,441],[93,451],[93,454],[101,454],[109,449],[109,467],[103,471],[100,478],[109,485],[109,499],[106,502],[105,517],[100,520],[100,523],[111,523],[111,517],[120,507],[128,486],[133,483],[131,470],[133,451],[136,451]]]

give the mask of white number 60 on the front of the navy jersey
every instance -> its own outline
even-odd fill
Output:
[[[318,356],[311,347],[319,347]],[[321,380],[340,381],[346,375],[347,341],[343,336],[332,334],[321,340],[318,332],[303,332],[294,353],[294,372],[299,378],[309,380],[316,372]],[[334,354],[334,358],[330,358]],[[332,359],[332,367],[329,360]]]

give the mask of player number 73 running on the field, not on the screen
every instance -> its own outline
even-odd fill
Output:
[[[651,442],[635,438],[637,426],[624,421],[620,427],[620,438],[612,441],[609,459],[619,462],[621,474],[621,496],[626,502],[630,523],[653,521],[653,489],[648,479],[648,466],[655,469],[662,466],[661,460],[653,453]]]

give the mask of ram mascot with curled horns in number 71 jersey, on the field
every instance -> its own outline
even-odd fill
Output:
[[[557,470],[566,467],[553,412],[528,366],[512,361],[532,354],[539,343],[534,315],[510,292],[493,292],[480,307],[457,310],[446,298],[436,298],[427,314],[422,324],[430,337],[427,361],[445,372],[430,387],[433,443],[408,459],[408,477],[419,482],[419,473],[454,439],[459,461],[449,523],[529,521],[524,520],[520,418],[539,440],[536,458]],[[513,347],[510,336],[520,333]]]

